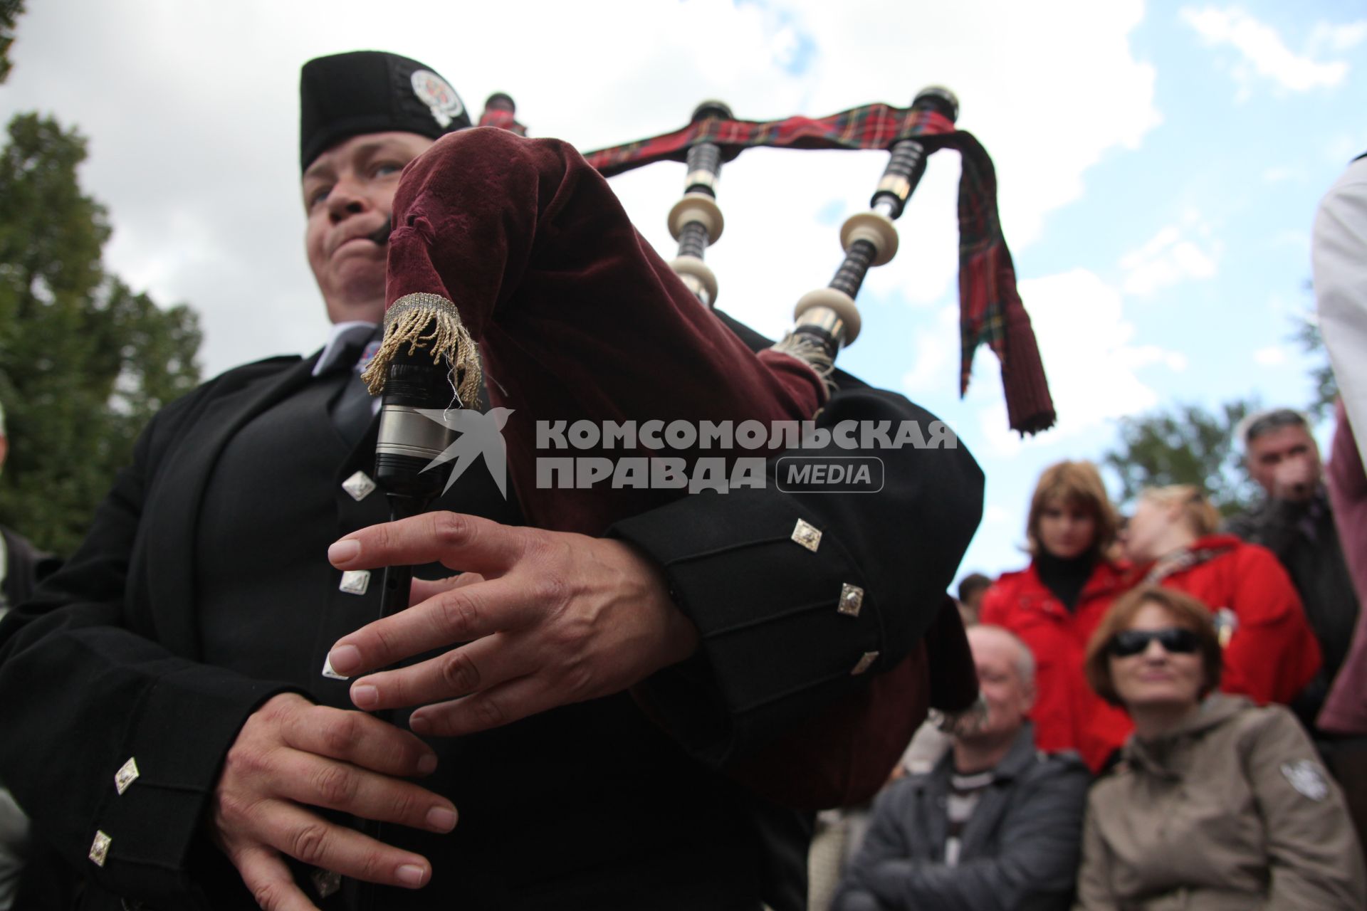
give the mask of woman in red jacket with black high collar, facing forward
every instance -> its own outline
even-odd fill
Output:
[[[1031,710],[1040,750],[1077,750],[1099,770],[1129,736],[1129,717],[1083,677],[1087,642],[1124,589],[1111,563],[1115,509],[1096,466],[1059,462],[1035,486],[1025,537],[1031,564],[1006,572],[983,598],[982,621],[1006,627],[1035,654]]]

